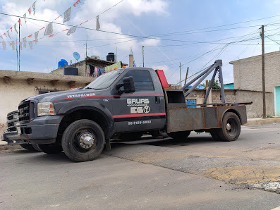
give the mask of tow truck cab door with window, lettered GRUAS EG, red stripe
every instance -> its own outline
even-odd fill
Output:
[[[135,92],[114,95],[113,112],[116,132],[157,130],[164,128],[166,115],[161,86],[154,87],[149,70],[128,70],[118,81],[132,76]],[[157,75],[154,73],[154,77]]]

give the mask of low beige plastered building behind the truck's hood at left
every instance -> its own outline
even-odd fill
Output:
[[[0,134],[6,128],[7,113],[18,109],[23,99],[37,94],[84,87],[95,78],[51,73],[0,70]]]

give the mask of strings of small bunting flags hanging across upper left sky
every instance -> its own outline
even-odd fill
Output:
[[[75,2],[75,4],[73,4],[74,7],[78,6],[78,4],[80,4],[81,0],[78,0]],[[35,11],[36,11],[36,2],[35,1],[33,4],[32,4],[32,11],[33,11],[33,16],[35,15]],[[28,9],[28,13],[29,15],[31,16],[31,7]],[[71,11],[72,11],[72,6],[70,8],[68,8],[64,13],[63,13],[63,24],[68,22],[69,20],[71,20]],[[103,12],[104,13],[104,12]],[[58,18],[60,18],[60,16],[58,16],[57,18],[55,18],[54,20],[57,20]],[[25,20],[25,24],[27,24],[27,17],[26,17],[26,13],[23,15],[23,18]],[[95,17],[94,17],[95,18]],[[92,20],[93,18],[91,18],[90,20]],[[100,29],[100,24],[99,24],[99,16],[96,17],[97,19],[97,23],[96,23],[96,30],[99,30]],[[37,44],[38,40],[39,39],[43,39],[44,37],[54,37],[54,35],[57,35],[61,32],[65,32],[67,31],[66,35],[71,35],[75,32],[76,28],[78,27],[78,25],[75,25],[73,27],[71,27],[70,29],[65,29],[65,30],[62,30],[60,32],[56,32],[56,33],[53,33],[53,22],[54,20],[51,22],[51,23],[48,23],[46,26],[40,28],[37,32],[34,33],[34,38],[30,41],[27,41],[27,37],[28,38],[32,38],[33,34],[32,35],[28,35],[27,37],[24,37],[22,39],[22,42],[19,42],[19,47],[20,47],[20,50],[23,49],[23,48],[26,48],[27,47],[27,42],[28,42],[28,45],[30,47],[30,49],[33,49],[33,42],[35,42],[35,44]],[[83,23],[87,23],[89,20],[86,20],[84,21]],[[80,25],[82,25],[83,23],[80,23]],[[13,27],[10,28],[11,32],[13,32],[13,30],[16,32],[16,34],[18,34],[18,30],[17,30],[17,27],[16,27],[17,23],[15,25],[13,25]],[[18,25],[22,26],[22,23],[21,23],[21,19],[19,18],[18,19]],[[41,30],[44,30],[44,37],[41,37],[41,38],[38,38],[39,37],[39,31]],[[11,36],[9,34],[9,30],[4,33],[4,36],[5,37],[9,37],[9,39],[11,39]],[[0,38],[3,39],[3,41],[1,42],[2,43],[2,49],[6,50],[6,42],[9,43],[9,45],[11,46],[11,49],[12,50],[16,50],[16,43],[15,41],[5,41],[3,36],[0,35]],[[16,41],[20,41],[19,39],[16,39]]]

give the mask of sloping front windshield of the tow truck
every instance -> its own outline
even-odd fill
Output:
[[[90,82],[90,84],[87,85],[85,89],[105,89],[109,87],[116,80],[116,78],[118,78],[118,76],[121,75],[121,73],[123,73],[123,70],[123,68],[120,68],[118,70],[112,70],[109,73],[104,73],[99,78]]]

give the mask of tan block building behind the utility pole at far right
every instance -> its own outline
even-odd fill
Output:
[[[280,51],[265,54],[265,88],[273,93],[267,106],[274,106],[273,116],[280,116]],[[249,89],[262,91],[262,56],[253,56],[237,61],[233,64],[233,78],[235,89]],[[269,114],[269,113],[267,113]]]

